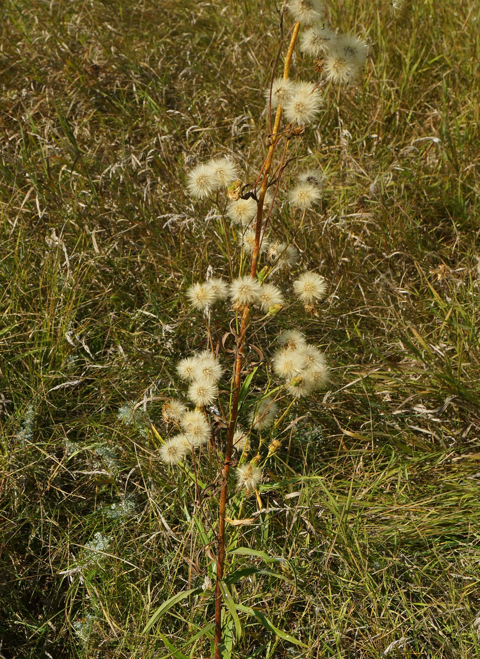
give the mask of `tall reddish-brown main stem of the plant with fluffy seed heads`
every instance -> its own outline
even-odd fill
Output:
[[[293,48],[295,47],[295,42],[297,40],[299,28],[300,28],[300,23],[297,22],[295,24],[295,27],[293,28],[287,55],[285,57],[284,80],[287,80],[288,78],[288,74],[290,71],[291,57],[293,55]],[[258,263],[258,254],[260,252],[260,238],[262,233],[263,204],[265,200],[266,188],[268,186],[268,175],[270,174],[270,169],[272,167],[272,159],[274,156],[275,147],[278,144],[278,140],[276,139],[276,137],[278,134],[278,129],[280,128],[281,120],[282,120],[282,106],[279,105],[275,117],[271,144],[270,147],[268,148],[268,154],[264,162],[262,186],[260,188],[260,194],[258,195],[258,211],[256,214],[256,225],[255,225],[255,246],[253,248],[252,266],[250,270],[250,274],[252,277],[256,276],[256,266]],[[249,319],[250,319],[250,305],[247,304],[243,310],[240,331],[237,337],[237,347],[235,349],[235,360],[233,363],[233,395],[231,399],[230,420],[228,424],[227,446],[225,448],[225,461],[221,474],[222,485],[220,489],[220,503],[218,505],[218,554],[217,554],[217,581],[215,587],[215,639],[214,639],[215,659],[222,658],[222,650],[220,648],[220,645],[222,644],[221,582],[222,579],[224,578],[224,567],[225,567],[225,514],[227,509],[228,475],[230,471],[231,455],[233,453],[233,434],[235,433],[235,425],[237,424],[238,404],[239,404],[240,387],[241,387],[241,371],[243,364],[243,348],[245,347],[245,333],[249,325]]]

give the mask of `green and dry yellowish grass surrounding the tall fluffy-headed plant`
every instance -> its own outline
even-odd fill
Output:
[[[233,154],[255,177],[274,5],[0,12],[0,656],[210,656],[212,601],[196,591],[142,635],[162,602],[208,587],[212,535],[142,409],[131,426],[117,413],[168,395],[202,344],[185,288],[226,268],[185,170]],[[230,527],[232,656],[473,659],[479,9],[363,0],[330,14],[371,58],[294,147],[328,174],[320,212],[300,225],[282,206],[277,227],[330,283],[306,331],[334,381],[298,408],[267,510],[232,504],[254,520]],[[300,56],[293,69],[309,76]],[[285,326],[305,326],[291,314]]]

